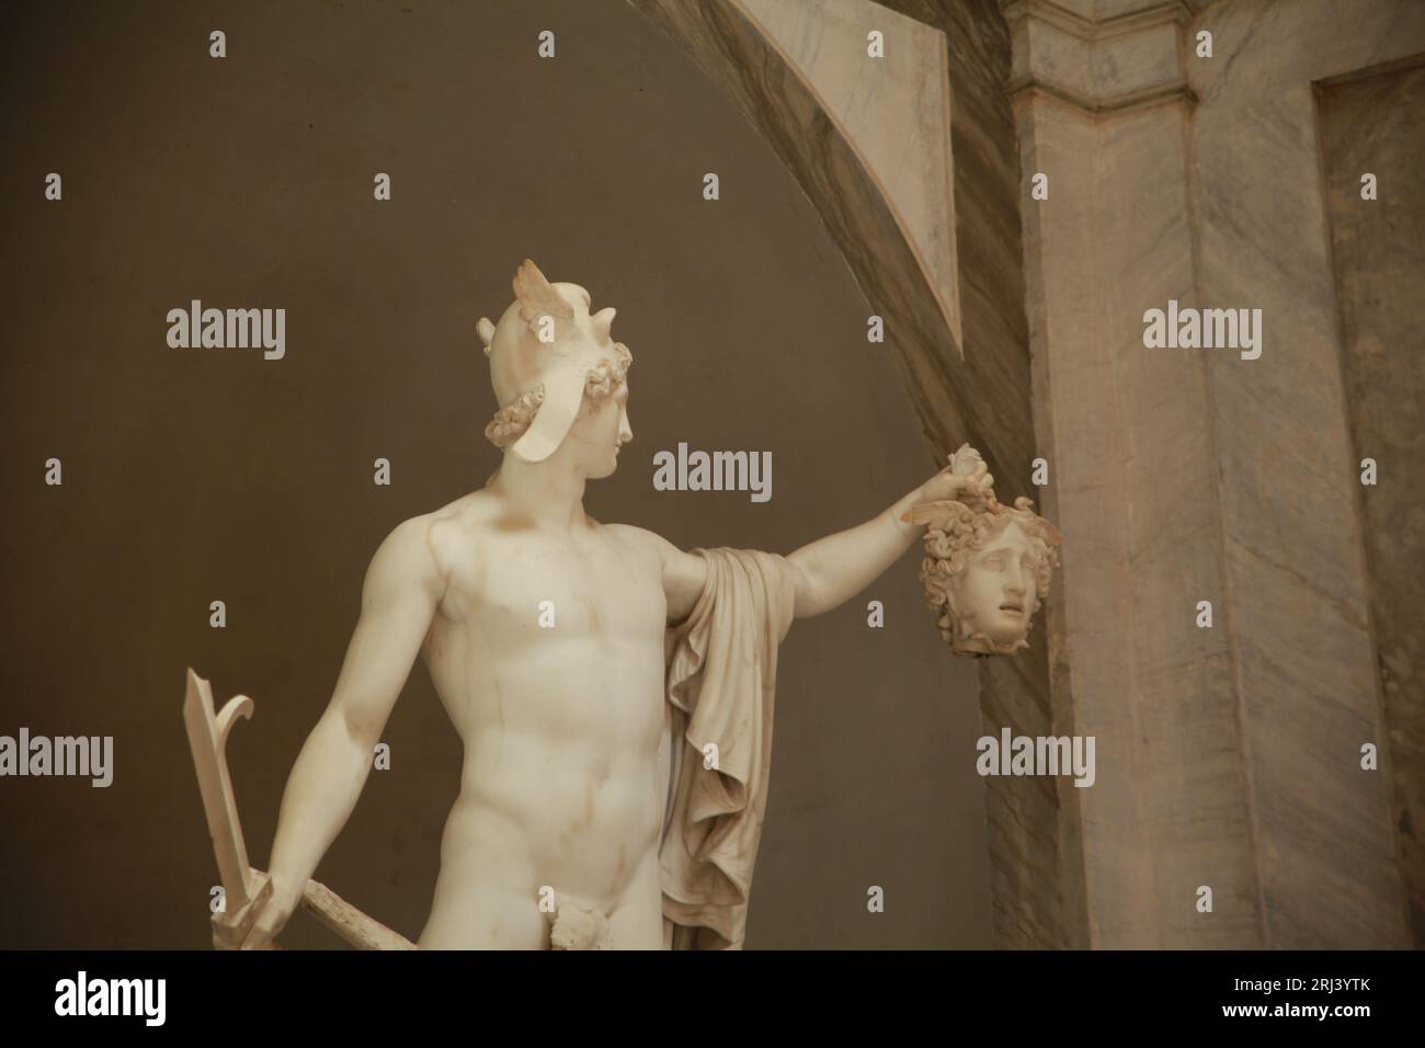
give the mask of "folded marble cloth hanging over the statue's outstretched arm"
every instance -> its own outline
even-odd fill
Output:
[[[693,553],[707,560],[707,583],[664,644],[663,941],[741,950],[772,763],[777,646],[791,627],[795,583],[772,553]],[[710,743],[717,767],[707,767]]]

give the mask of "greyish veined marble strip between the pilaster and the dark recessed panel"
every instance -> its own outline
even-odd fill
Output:
[[[1261,308],[1206,356],[1268,947],[1402,947],[1389,780],[1312,81],[1425,50],[1418,0],[1234,0],[1188,64],[1198,294]],[[1414,204],[1419,207],[1419,204]]]

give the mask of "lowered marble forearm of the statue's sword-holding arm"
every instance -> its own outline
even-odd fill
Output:
[[[271,874],[301,895],[326,848],[356,807],[370,774],[370,747],[351,737],[345,719],[328,711],[312,729],[282,794]]]

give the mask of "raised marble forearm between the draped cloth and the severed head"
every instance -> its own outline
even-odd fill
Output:
[[[915,542],[921,529],[901,515],[921,500],[916,488],[856,528],[811,542],[787,559],[797,575],[798,619],[821,615],[854,597]]]

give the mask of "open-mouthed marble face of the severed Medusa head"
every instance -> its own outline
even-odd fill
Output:
[[[1029,633],[1039,603],[1035,549],[1017,520],[975,552],[952,586],[956,633],[1013,646]]]

